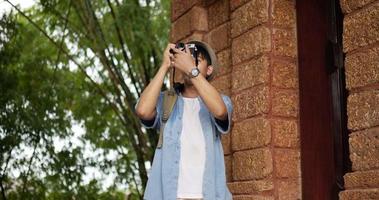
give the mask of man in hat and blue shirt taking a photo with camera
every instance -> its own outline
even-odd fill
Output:
[[[197,67],[187,45],[181,51],[168,44],[160,69],[135,105],[142,125],[159,130],[164,77],[171,67],[183,74],[184,87],[176,90],[178,98],[164,128],[163,146],[155,149],[146,200],[232,199],[221,144],[221,134],[230,131],[232,102],[209,83],[218,69],[214,51],[204,42],[189,43],[198,49]]]

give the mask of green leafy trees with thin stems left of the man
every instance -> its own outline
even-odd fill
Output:
[[[161,63],[169,1],[6,2],[14,11],[0,20],[1,197],[125,199],[122,184],[126,198],[142,199],[158,134],[133,109]],[[88,167],[116,173],[114,185],[83,183]]]

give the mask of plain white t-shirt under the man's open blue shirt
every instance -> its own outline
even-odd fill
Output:
[[[198,98],[183,98],[183,129],[180,135],[180,162],[177,198],[203,198],[205,140],[201,129]]]

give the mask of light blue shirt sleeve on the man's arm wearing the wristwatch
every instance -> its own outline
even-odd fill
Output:
[[[226,120],[219,120],[212,115],[212,120],[213,120],[213,123],[215,124],[217,130],[220,133],[227,134],[230,131],[230,127],[232,124],[233,105],[232,105],[232,100],[230,99],[229,96],[221,94],[221,97],[225,103],[226,110],[228,112],[228,117]]]

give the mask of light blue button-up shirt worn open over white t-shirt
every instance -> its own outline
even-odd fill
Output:
[[[205,137],[206,162],[203,176],[204,200],[232,200],[226,184],[224,153],[221,135],[230,131],[233,106],[230,97],[221,94],[228,111],[227,123],[217,120],[200,97],[200,122]],[[140,99],[137,100],[135,107]],[[150,121],[140,119],[145,128],[159,130],[161,124],[163,92],[156,106],[157,115]],[[180,160],[180,134],[182,130],[183,97],[178,95],[173,111],[166,122],[163,146],[155,149],[148,175],[144,200],[176,200]]]

